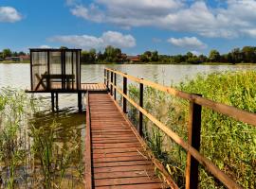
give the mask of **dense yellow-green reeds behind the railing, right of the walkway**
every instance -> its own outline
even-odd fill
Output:
[[[203,94],[204,97],[248,112],[256,112],[255,78],[256,72],[253,71],[216,73],[199,75],[173,87],[188,93]],[[131,85],[129,94],[138,102],[137,86]],[[144,100],[148,112],[187,140],[188,101],[152,88],[145,89]],[[137,124],[137,111],[131,106],[129,114]],[[184,188],[186,152],[147,118],[144,118],[144,134],[155,156],[165,163],[174,180]],[[200,153],[245,188],[256,187],[255,127],[203,108]],[[224,187],[202,166],[199,178],[201,188]]]

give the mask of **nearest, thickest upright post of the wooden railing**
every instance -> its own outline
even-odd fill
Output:
[[[197,94],[202,96],[201,94]],[[188,125],[189,144],[199,151],[201,132],[202,106],[190,103],[190,120]],[[186,189],[197,189],[198,186],[198,162],[188,152],[186,165]]]

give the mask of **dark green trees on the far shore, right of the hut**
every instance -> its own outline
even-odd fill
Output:
[[[212,49],[208,56],[194,55],[192,52],[185,55],[159,55],[157,51],[146,51],[138,58],[138,62],[141,63],[256,63],[256,46],[244,46],[241,49],[234,48],[227,54],[220,54],[217,50]],[[125,63],[130,61],[128,56],[123,54],[119,48],[113,46],[107,46],[103,53],[101,51],[97,52],[95,49],[82,51],[81,59],[82,63]]]

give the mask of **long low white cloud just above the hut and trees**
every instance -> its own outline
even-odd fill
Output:
[[[48,39],[50,42],[64,43],[81,47],[84,49],[101,49],[107,45],[113,45],[119,48],[130,48],[136,46],[136,39],[132,35],[123,35],[117,31],[104,32],[101,37],[89,35],[67,35],[55,36]]]

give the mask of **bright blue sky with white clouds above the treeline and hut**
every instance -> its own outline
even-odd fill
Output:
[[[208,55],[256,45],[256,0],[0,0],[0,50]]]

